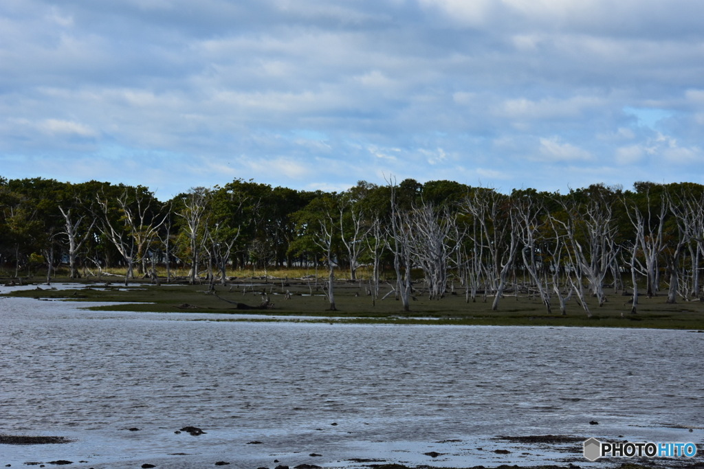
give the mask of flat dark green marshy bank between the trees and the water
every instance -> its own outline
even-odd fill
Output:
[[[54,279],[55,283],[67,281]],[[338,311],[328,311],[325,283],[316,278],[237,278],[227,285],[215,285],[208,291],[207,284],[182,283],[151,285],[132,282],[128,288],[119,277],[103,277],[100,282],[78,282],[69,290],[52,289],[51,285],[34,279],[36,288],[15,291],[12,296],[37,300],[76,300],[114,302],[94,309],[110,311],[155,312],[208,312],[223,314],[222,320],[237,321],[237,314],[272,314],[279,316],[314,316],[318,321],[350,323],[400,323],[400,324],[464,324],[486,326],[587,326],[617,328],[671,328],[704,330],[704,303],[665,303],[665,295],[639,300],[638,314],[630,314],[630,297],[612,293],[603,307],[596,302],[589,304],[592,317],[572,300],[567,314],[562,316],[553,309],[548,314],[539,298],[521,294],[507,294],[498,311],[491,311],[489,297],[478,297],[476,302],[466,302],[463,290],[448,294],[441,300],[428,300],[420,294],[410,304],[410,311],[403,311],[401,302],[392,293],[385,300],[374,300],[367,295],[363,281],[338,281],[335,300]],[[8,282],[0,280],[0,282]],[[27,283],[27,281],[25,281]],[[389,293],[389,286],[382,288],[382,295]],[[287,295],[288,294],[288,295]],[[258,310],[263,295],[272,303],[271,309]],[[590,299],[590,301],[593,301]],[[135,304],[137,303],[137,304]],[[249,309],[252,307],[254,309]]]

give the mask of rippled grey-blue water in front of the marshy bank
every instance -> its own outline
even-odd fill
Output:
[[[0,433],[74,440],[0,445],[1,465],[589,467],[579,443],[495,437],[704,435],[704,334],[222,323],[80,306],[0,298]],[[185,425],[206,434],[175,433]]]

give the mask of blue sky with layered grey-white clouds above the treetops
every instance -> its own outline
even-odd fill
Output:
[[[704,184],[704,2],[2,0],[0,176]]]

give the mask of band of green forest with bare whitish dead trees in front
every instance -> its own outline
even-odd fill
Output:
[[[503,294],[539,297],[548,314],[605,289],[698,300],[704,186],[593,184],[570,193],[454,181],[360,181],[342,192],[297,191],[236,179],[160,201],[149,188],[0,177],[0,276],[101,276],[125,283],[225,285],[254,269],[308,269],[327,280],[388,285],[408,310],[455,286],[498,309]]]

